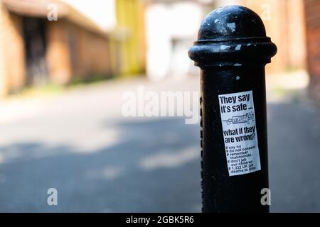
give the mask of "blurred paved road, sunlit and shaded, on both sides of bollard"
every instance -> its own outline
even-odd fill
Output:
[[[197,91],[198,79],[107,82],[0,104],[0,211],[200,211],[198,125],[125,118],[124,91]],[[320,114],[300,92],[268,105],[272,211],[320,211]],[[58,206],[47,190],[58,190]]]

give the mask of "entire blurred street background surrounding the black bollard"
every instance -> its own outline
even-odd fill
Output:
[[[271,211],[320,212],[317,0],[0,0],[0,211],[201,211],[198,124],[124,117],[122,95],[198,92],[188,48],[229,4],[258,13],[278,47]]]

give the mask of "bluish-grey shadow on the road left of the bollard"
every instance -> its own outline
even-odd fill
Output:
[[[11,154],[0,165],[0,211],[200,211],[198,126],[181,118],[114,124],[119,143],[89,154],[39,143],[0,148]],[[58,206],[46,203],[51,187]]]

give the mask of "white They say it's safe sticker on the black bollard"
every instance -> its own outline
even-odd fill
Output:
[[[229,176],[261,170],[252,91],[219,95]]]

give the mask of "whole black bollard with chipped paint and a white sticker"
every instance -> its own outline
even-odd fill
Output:
[[[243,6],[208,13],[188,52],[201,68],[203,212],[269,212],[265,65],[277,52]]]

